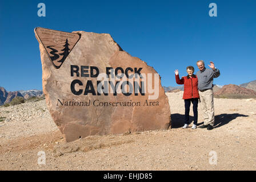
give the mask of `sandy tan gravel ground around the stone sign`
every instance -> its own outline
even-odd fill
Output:
[[[181,128],[182,94],[166,93],[171,129],[70,143],[51,119],[45,100],[0,107],[0,170],[255,170],[256,100],[214,98],[214,129],[193,130],[192,123]],[[198,112],[202,124],[200,107]],[[192,108],[190,116],[192,121]],[[38,164],[40,151],[45,164]]]

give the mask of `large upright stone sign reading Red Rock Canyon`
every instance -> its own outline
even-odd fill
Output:
[[[109,34],[38,27],[35,35],[46,104],[67,142],[170,126],[158,73]]]

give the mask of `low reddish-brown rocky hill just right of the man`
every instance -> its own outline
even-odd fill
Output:
[[[256,96],[256,92],[254,90],[246,89],[241,86],[237,86],[233,84],[224,85],[221,89],[217,90],[217,92],[214,93],[214,96],[220,96],[224,94]]]

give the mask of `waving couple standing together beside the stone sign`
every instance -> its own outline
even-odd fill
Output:
[[[212,130],[214,125],[214,105],[213,105],[213,78],[217,78],[221,73],[215,68],[214,63],[210,62],[209,67],[205,68],[203,60],[197,61],[199,71],[194,75],[194,67],[187,67],[187,76],[179,79],[179,71],[176,69],[175,80],[177,84],[184,84],[183,100],[185,101],[185,125],[183,129],[189,127],[190,104],[193,104],[194,123],[192,129],[197,128],[198,101],[203,112],[203,125],[201,128]]]

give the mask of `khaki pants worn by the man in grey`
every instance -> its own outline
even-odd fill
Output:
[[[214,125],[213,89],[200,92],[200,107],[203,112],[204,125]]]

